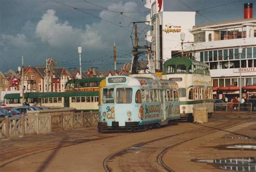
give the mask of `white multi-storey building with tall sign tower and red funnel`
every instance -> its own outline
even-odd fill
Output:
[[[146,3],[147,8],[151,6],[152,27],[157,28],[152,34],[152,49],[157,61],[181,55],[180,33],[184,32],[183,43],[190,43],[183,44],[184,54],[208,64],[216,98],[239,97],[240,73],[243,96],[256,96],[256,18],[252,17],[252,4],[245,4],[243,19],[194,26],[195,12],[154,14],[152,11],[157,11],[155,2]],[[239,47],[242,48],[240,54]],[[160,66],[157,69],[161,69]],[[255,90],[253,87],[246,90],[246,86],[253,84]]]

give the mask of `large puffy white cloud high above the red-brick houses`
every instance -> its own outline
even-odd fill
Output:
[[[68,21],[61,23],[55,15],[55,10],[47,10],[36,26],[36,35],[52,47],[85,45],[88,48],[98,48],[102,41],[97,31],[86,25],[86,30],[80,30],[69,25]]]

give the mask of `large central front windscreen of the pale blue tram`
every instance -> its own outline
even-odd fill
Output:
[[[132,103],[132,88],[117,88],[116,103]]]

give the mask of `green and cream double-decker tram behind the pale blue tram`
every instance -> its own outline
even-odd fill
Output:
[[[189,58],[172,58],[164,63],[162,78],[179,86],[181,119],[192,120],[193,109],[207,107],[213,112],[212,80],[206,63]]]

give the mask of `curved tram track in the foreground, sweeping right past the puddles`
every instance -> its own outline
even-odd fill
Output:
[[[201,138],[201,137],[205,137],[206,135],[210,135],[210,134],[213,134],[215,132],[218,132],[218,131],[223,131],[223,130],[226,130],[227,128],[231,128],[231,127],[234,127],[234,126],[238,126],[240,124],[244,123],[244,121],[225,121],[224,123],[221,123],[221,124],[217,124],[217,125],[213,125],[211,127],[207,127],[207,126],[203,126],[201,125],[200,128],[196,128],[194,130],[190,130],[190,131],[185,131],[185,132],[181,132],[181,133],[177,133],[177,134],[171,134],[171,135],[167,135],[166,137],[161,137],[161,138],[158,138],[158,139],[153,139],[153,140],[149,140],[149,141],[146,141],[146,142],[140,142],[139,144],[136,144],[136,145],[132,145],[130,147],[126,147],[122,150],[119,150],[109,156],[107,156],[103,162],[103,166],[104,166],[104,169],[105,171],[112,171],[113,169],[111,168],[110,166],[110,162],[113,163],[113,161],[117,158],[119,159],[122,159],[121,156],[124,156],[124,154],[127,154],[127,153],[130,153],[131,149],[132,148],[140,148],[140,149],[143,149],[143,147],[145,149],[152,149],[152,147],[150,148],[150,144],[156,144],[156,142],[159,142],[161,140],[166,140],[166,139],[171,139],[171,138],[176,138],[176,137],[181,137],[183,135],[191,135],[193,133],[194,134],[194,137],[189,137],[185,140],[182,140],[182,141],[179,141],[179,142],[176,142],[176,144],[173,144],[171,146],[168,146],[168,147],[165,147],[161,150],[160,153],[158,153],[156,159],[157,159],[157,162],[158,164],[160,165],[160,167],[166,171],[174,171],[173,169],[171,169],[170,167],[168,167],[164,162],[163,162],[163,156],[165,155],[166,152],[168,152],[170,149],[176,147],[176,146],[179,146],[179,145],[182,145],[184,144],[185,142],[188,142],[188,141],[191,141],[191,140],[194,140],[194,139],[198,139],[198,138]],[[199,133],[199,135],[198,135]],[[204,134],[201,134],[201,133],[204,133]],[[159,148],[160,149],[160,148]],[[146,151],[145,151],[146,152]],[[142,156],[142,155],[141,155]],[[149,156],[149,155],[147,155]],[[121,160],[119,160],[121,161]],[[139,162],[139,160],[138,160]],[[152,164],[149,164],[152,166]],[[143,165],[142,165],[143,166]],[[123,169],[129,169],[129,167],[122,167]],[[147,167],[146,167],[147,168]],[[153,166],[151,167],[153,168]],[[130,170],[134,170],[134,169],[130,169]],[[148,169],[147,169],[148,170]]]

